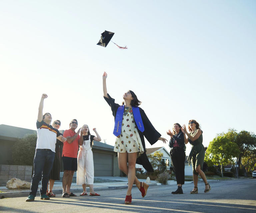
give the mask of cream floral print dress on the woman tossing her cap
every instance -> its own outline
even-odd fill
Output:
[[[125,107],[122,121],[121,134],[115,142],[115,152],[138,152],[138,156],[144,152],[140,135],[133,118],[132,107]]]

